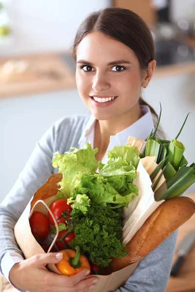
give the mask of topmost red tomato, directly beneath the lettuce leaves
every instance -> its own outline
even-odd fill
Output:
[[[58,219],[57,220],[58,223],[59,222],[66,223],[66,220],[71,217],[71,216],[66,216],[67,214],[70,214],[72,212],[71,205],[67,204],[67,200],[66,199],[58,199],[56,201],[53,201],[50,204],[49,208],[52,211],[52,213],[54,214],[54,217],[56,219]],[[59,219],[59,217],[62,215],[62,213],[64,213],[64,217],[61,217]],[[49,220],[50,220],[51,224],[55,226],[54,220],[52,219],[52,216],[51,216],[51,214],[49,212],[48,212],[48,217],[49,217]]]

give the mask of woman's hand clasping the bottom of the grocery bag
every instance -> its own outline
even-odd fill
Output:
[[[84,292],[94,286],[97,278],[86,278],[87,270],[72,276],[48,271],[46,264],[56,264],[61,260],[57,254],[38,254],[16,263],[9,273],[11,283],[29,292]]]

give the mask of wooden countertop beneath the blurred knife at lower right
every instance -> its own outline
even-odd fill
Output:
[[[195,194],[186,194],[185,196],[195,201]],[[176,246],[192,229],[195,229],[195,214],[179,227]],[[176,258],[177,254],[175,253],[173,263]],[[165,292],[195,292],[195,245],[185,258],[179,274],[176,277],[170,276]]]

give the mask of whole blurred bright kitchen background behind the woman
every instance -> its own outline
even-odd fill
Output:
[[[189,163],[195,161],[195,0],[0,0],[0,201],[52,123],[90,114],[76,89],[69,50],[81,21],[107,6],[131,9],[149,25],[157,67],[142,96],[158,113],[161,102],[169,138],[191,112],[179,140]],[[187,190],[192,193],[195,185]],[[182,271],[166,292],[195,291],[195,249]]]

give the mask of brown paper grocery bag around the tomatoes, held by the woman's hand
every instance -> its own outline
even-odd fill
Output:
[[[29,258],[39,253],[45,253],[42,247],[39,245],[37,240],[31,233],[31,228],[29,224],[30,213],[34,210],[41,211],[47,214],[47,209],[44,207],[43,204],[39,203],[35,205],[36,202],[39,200],[43,200],[44,202],[50,201],[58,192],[59,186],[57,185],[62,179],[62,174],[53,174],[51,175],[46,183],[44,183],[34,194],[31,201],[28,203],[27,207],[25,208],[24,212],[20,216],[18,222],[15,225],[14,232],[16,241],[20,246],[21,251],[23,252],[25,258]],[[57,225],[58,226],[58,225]],[[57,237],[55,237],[57,238]],[[55,239],[53,244],[55,243]],[[50,247],[50,249],[52,246]],[[48,252],[50,251],[48,250]],[[130,275],[134,272],[137,267],[138,262],[125,267],[124,269],[112,273],[107,276],[103,275],[96,275],[98,278],[98,282],[91,292],[113,292],[118,287],[123,286]],[[55,264],[47,265],[48,270],[60,274],[58,269],[56,268]]]

